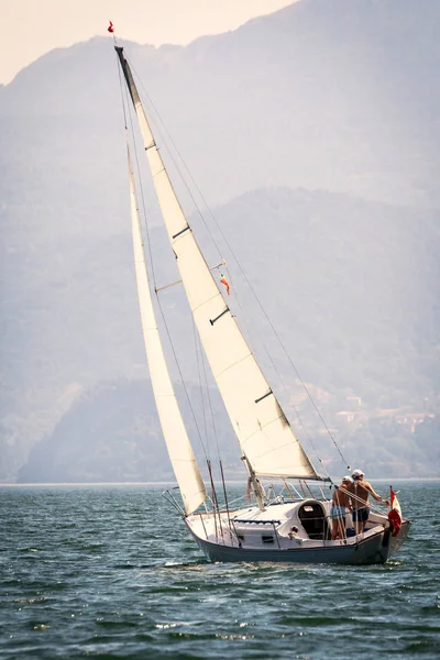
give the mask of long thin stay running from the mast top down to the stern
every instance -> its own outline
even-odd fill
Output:
[[[130,66],[132,67],[132,64],[131,64],[131,62],[130,62]],[[132,68],[133,68],[133,67],[132,67]],[[136,72],[135,72],[135,69],[134,69],[134,68],[133,68],[133,72],[136,74]],[[321,424],[323,425],[323,427],[324,427],[324,429],[327,430],[327,433],[329,435],[329,437],[330,437],[331,441],[333,442],[333,444],[334,444],[334,447],[336,447],[336,449],[337,449],[337,451],[338,451],[339,455],[341,457],[341,459],[342,459],[342,462],[343,462],[343,463],[345,463],[345,464],[348,464],[348,463],[346,463],[346,461],[345,461],[345,459],[344,459],[344,457],[343,457],[343,454],[342,454],[342,452],[341,452],[341,450],[340,450],[340,448],[338,447],[338,444],[337,444],[337,442],[336,442],[336,440],[334,440],[334,437],[333,437],[333,435],[331,433],[331,431],[330,431],[329,427],[327,426],[327,424],[326,424],[326,421],[324,421],[324,419],[323,419],[323,417],[322,417],[322,415],[321,415],[321,413],[320,413],[320,410],[319,410],[318,406],[316,405],[316,403],[315,403],[315,399],[312,398],[312,396],[311,396],[311,394],[310,394],[310,392],[309,392],[308,387],[306,386],[306,384],[305,384],[304,380],[302,380],[302,378],[301,378],[301,376],[299,375],[299,372],[298,372],[298,370],[297,370],[297,367],[296,367],[295,363],[293,362],[293,360],[292,360],[290,355],[288,354],[288,352],[287,352],[287,350],[286,350],[286,348],[285,348],[285,345],[284,345],[283,341],[280,340],[280,338],[279,338],[279,336],[278,336],[277,331],[275,330],[275,328],[274,328],[274,326],[273,326],[273,323],[272,323],[272,321],[271,321],[271,319],[270,319],[270,317],[268,317],[268,315],[267,315],[266,310],[264,309],[264,307],[263,307],[263,304],[261,302],[261,300],[260,300],[258,296],[256,295],[256,293],[255,293],[254,288],[252,287],[252,285],[251,285],[250,280],[249,280],[249,278],[246,277],[246,275],[245,275],[245,273],[244,273],[243,268],[241,267],[241,265],[240,265],[240,262],[239,262],[239,260],[237,258],[234,251],[232,250],[232,248],[231,248],[231,245],[230,245],[230,243],[229,243],[228,239],[226,238],[226,235],[224,235],[223,231],[221,230],[221,227],[220,227],[220,224],[218,223],[218,221],[217,221],[217,219],[216,219],[216,217],[215,217],[213,212],[211,211],[211,209],[210,209],[210,207],[209,207],[208,202],[206,201],[206,199],[205,199],[205,197],[204,197],[204,195],[202,195],[202,193],[201,193],[200,188],[198,187],[198,185],[197,185],[196,180],[194,179],[194,177],[193,177],[193,175],[191,175],[191,173],[190,173],[190,170],[189,170],[188,166],[186,165],[186,163],[185,163],[185,161],[184,161],[184,158],[183,158],[183,156],[182,156],[182,154],[180,154],[179,150],[177,148],[177,146],[176,146],[176,144],[175,144],[175,142],[174,142],[174,140],[173,140],[173,138],[172,138],[172,136],[170,136],[170,134],[169,134],[169,131],[167,130],[167,128],[166,128],[165,123],[163,122],[163,120],[162,120],[162,118],[161,118],[160,113],[157,112],[157,110],[156,110],[156,108],[155,108],[155,106],[154,106],[154,103],[153,103],[152,99],[151,99],[151,98],[150,98],[150,96],[148,96],[148,92],[146,91],[145,87],[143,86],[143,84],[142,84],[142,80],[139,78],[138,74],[136,74],[136,78],[138,78],[138,80],[140,81],[140,86],[141,86],[141,88],[143,89],[143,91],[144,91],[144,94],[145,94],[146,98],[148,99],[148,101],[150,101],[150,103],[151,103],[152,108],[154,109],[154,111],[155,111],[155,113],[156,113],[156,116],[157,116],[157,118],[158,118],[158,121],[160,121],[160,122],[161,122],[161,124],[163,125],[163,128],[164,128],[164,130],[165,130],[165,132],[166,132],[166,134],[167,134],[167,136],[168,136],[168,139],[169,139],[169,141],[170,141],[170,143],[173,144],[174,148],[176,150],[176,153],[177,153],[178,157],[180,158],[180,161],[182,161],[182,163],[183,163],[183,165],[184,165],[184,167],[185,167],[186,172],[188,173],[188,175],[189,175],[189,178],[190,178],[190,180],[191,180],[193,185],[195,186],[195,189],[196,189],[196,190],[197,190],[197,193],[199,194],[199,196],[200,196],[200,199],[202,200],[202,202],[205,204],[205,206],[206,206],[206,208],[207,208],[207,210],[208,210],[208,213],[211,216],[211,218],[212,218],[212,220],[213,220],[213,222],[215,222],[215,224],[216,224],[216,228],[217,228],[217,230],[219,231],[219,233],[220,233],[220,235],[222,237],[222,239],[223,239],[223,241],[224,241],[226,245],[228,246],[229,251],[231,252],[231,254],[232,254],[232,256],[233,256],[233,258],[234,258],[234,261],[235,261],[235,263],[237,263],[237,265],[238,265],[238,267],[239,267],[240,272],[242,273],[242,276],[244,277],[245,282],[248,283],[248,286],[250,287],[250,289],[251,289],[251,292],[252,292],[252,294],[253,294],[253,296],[254,296],[255,300],[257,301],[257,304],[258,304],[258,306],[260,306],[260,308],[261,308],[261,310],[262,310],[262,312],[263,312],[264,317],[266,318],[266,320],[267,320],[268,324],[271,326],[271,328],[272,328],[272,331],[274,332],[274,336],[276,337],[276,339],[277,339],[277,341],[278,341],[279,345],[282,346],[282,349],[283,349],[283,351],[284,351],[284,353],[285,353],[285,355],[286,355],[287,360],[288,360],[288,361],[289,361],[289,363],[290,363],[290,366],[292,366],[292,367],[293,367],[293,370],[295,371],[295,373],[296,373],[296,375],[297,375],[297,377],[298,377],[299,382],[300,382],[300,383],[301,383],[301,385],[302,385],[302,388],[305,389],[305,392],[306,392],[307,396],[309,397],[309,399],[310,399],[310,402],[311,402],[311,405],[314,406],[314,408],[315,408],[315,410],[316,410],[316,413],[317,413],[317,415],[318,415],[319,419],[321,420]],[[201,218],[201,219],[202,219],[202,221],[204,221],[204,224],[205,224],[205,227],[207,228],[207,231],[208,231],[209,235],[211,237],[211,240],[212,240],[212,242],[213,242],[213,244],[215,244],[216,249],[217,249],[217,250],[218,250],[218,252],[219,252],[219,256],[221,256],[221,252],[220,252],[220,249],[219,249],[219,246],[218,246],[218,244],[217,244],[217,241],[215,240],[215,238],[213,238],[213,235],[212,235],[212,232],[210,231],[210,229],[209,229],[209,227],[208,227],[208,224],[207,224],[207,222],[206,222],[206,220],[205,220],[205,217],[204,217],[204,215],[201,213],[201,211],[200,211],[200,209],[199,209],[199,207],[198,207],[198,205],[197,205],[197,202],[196,202],[196,200],[195,200],[195,198],[194,198],[194,196],[193,196],[193,194],[191,194],[191,191],[190,191],[190,189],[189,189],[189,186],[187,185],[187,183],[186,183],[185,178],[183,177],[183,175],[182,175],[182,173],[180,173],[180,169],[179,169],[179,167],[178,167],[178,166],[177,166],[177,164],[175,163],[175,160],[174,160],[174,157],[173,157],[173,155],[172,155],[170,151],[169,151],[169,150],[167,150],[167,151],[168,151],[168,154],[169,154],[169,156],[170,156],[170,158],[172,158],[172,161],[173,161],[173,164],[176,166],[176,169],[177,169],[177,172],[179,173],[179,175],[180,175],[180,177],[182,177],[182,180],[183,180],[183,183],[184,183],[185,187],[187,188],[187,190],[188,190],[188,193],[189,193],[189,195],[190,195],[190,197],[191,197],[191,199],[193,199],[193,201],[194,201],[194,204],[195,204],[195,206],[196,206],[196,209],[197,209],[197,211],[198,211],[198,212],[199,212],[199,215],[200,215],[200,218]],[[348,466],[349,466],[349,465],[348,465]]]

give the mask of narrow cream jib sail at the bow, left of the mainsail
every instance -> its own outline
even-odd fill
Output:
[[[134,264],[150,376],[169,459],[184,501],[185,513],[191,514],[202,502],[205,502],[207,495],[182,419],[157,330],[145,264],[141,222],[136,204],[133,172],[130,162],[130,150],[129,172]]]

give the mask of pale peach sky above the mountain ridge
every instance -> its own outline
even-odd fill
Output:
[[[140,43],[187,44],[233,30],[298,0],[0,0],[0,84],[44,53],[107,34]]]

